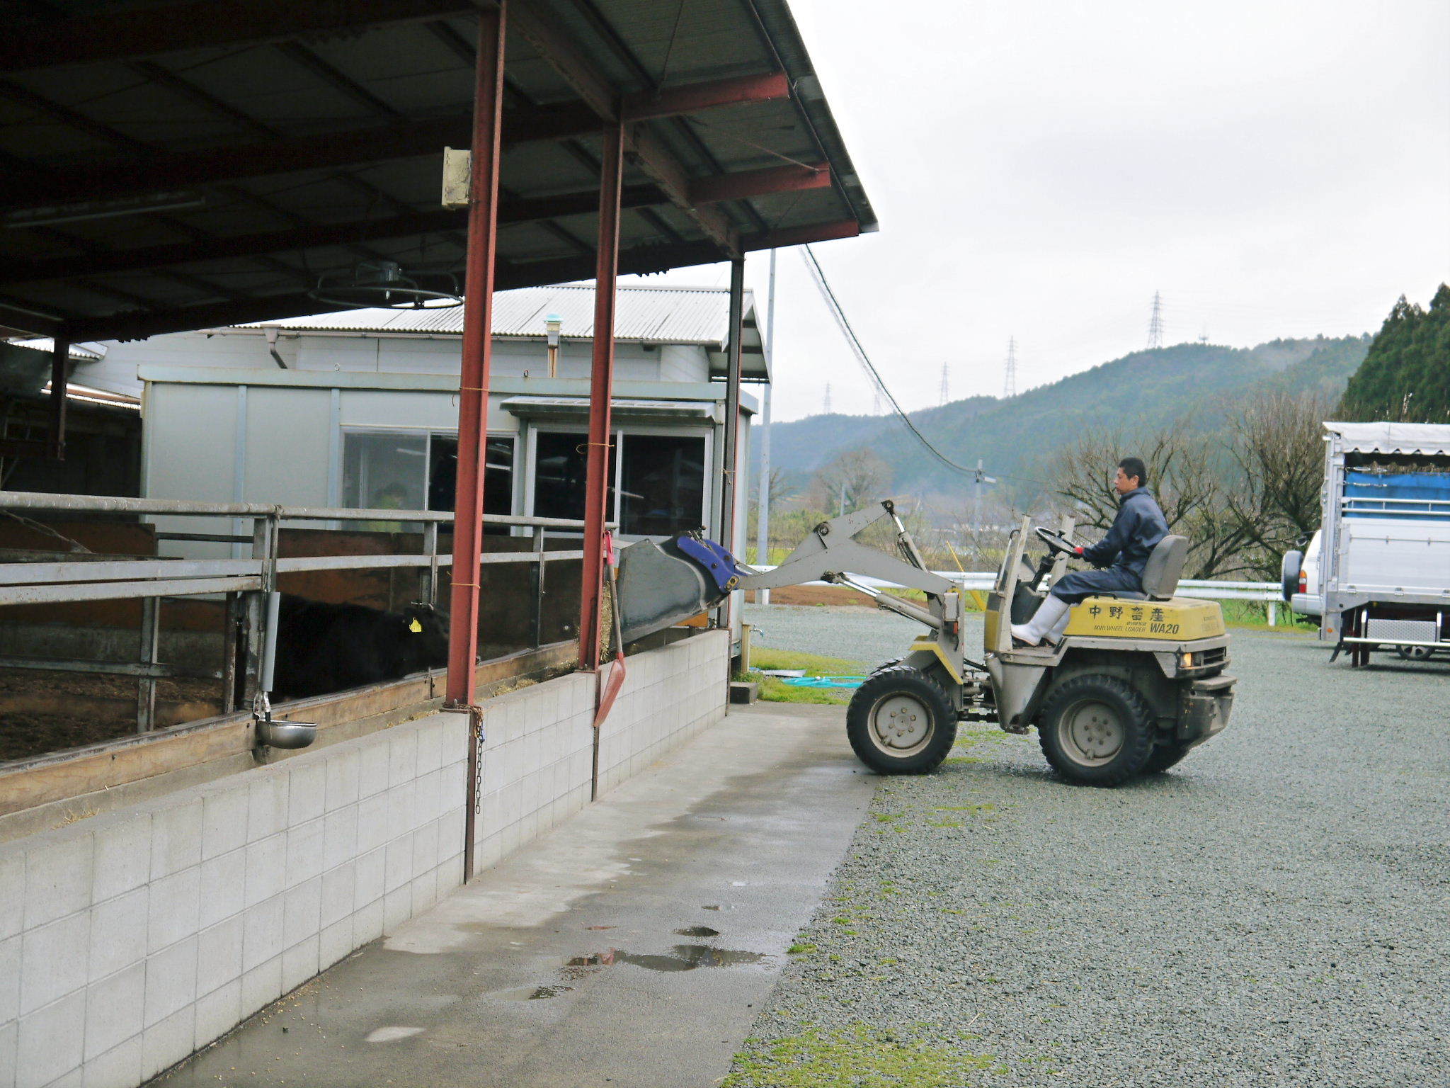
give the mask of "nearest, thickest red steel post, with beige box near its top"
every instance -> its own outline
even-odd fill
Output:
[[[464,281],[463,368],[458,383],[458,480],[448,628],[448,705],[471,706],[478,656],[478,550],[483,466],[489,432],[489,361],[493,354],[493,265],[499,213],[499,132],[503,120],[503,33],[508,0],[478,10],[473,97],[468,255]],[[477,744],[473,746],[474,751]],[[473,763],[473,759],[470,759]],[[470,766],[470,773],[477,769]],[[468,812],[473,799],[468,798]],[[471,850],[465,856],[471,857]]]

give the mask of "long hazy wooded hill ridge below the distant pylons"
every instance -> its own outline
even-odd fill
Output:
[[[1217,431],[1237,397],[1286,389],[1337,397],[1359,367],[1369,337],[1275,339],[1253,348],[1176,344],[1135,351],[1011,399],[970,397],[912,412],[912,422],[947,457],[1014,490],[1035,490],[1043,454],[1092,426],[1160,426],[1170,421]],[[871,450],[892,471],[892,489],[960,496],[970,477],[935,461],[895,416],[808,416],[776,424],[771,466],[795,486],[848,450]]]

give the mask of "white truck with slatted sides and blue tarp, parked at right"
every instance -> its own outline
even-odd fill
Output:
[[[1324,524],[1285,556],[1286,599],[1320,612],[1320,637],[1351,664],[1450,650],[1450,425],[1324,429]]]

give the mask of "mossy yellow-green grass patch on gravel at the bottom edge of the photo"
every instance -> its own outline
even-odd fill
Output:
[[[1008,1073],[967,1040],[929,1042],[867,1024],[747,1040],[724,1088],[961,1088],[970,1073]]]

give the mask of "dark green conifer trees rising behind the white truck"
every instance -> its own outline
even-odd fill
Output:
[[[1344,419],[1450,422],[1450,286],[1430,309],[1401,296],[1340,405]]]

